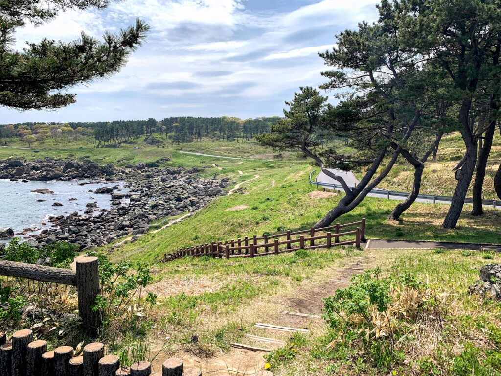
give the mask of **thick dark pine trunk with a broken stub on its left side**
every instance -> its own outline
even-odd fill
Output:
[[[468,192],[468,187],[473,177],[473,171],[476,164],[476,141],[470,129],[468,117],[471,107],[471,100],[466,100],[461,105],[459,110],[459,123],[463,125],[461,135],[466,146],[466,154],[464,155],[464,164],[462,166],[461,178],[457,182],[452,201],[450,203],[449,211],[445,216],[442,223],[444,229],[455,229],[457,221],[461,216],[463,210],[464,199]]]

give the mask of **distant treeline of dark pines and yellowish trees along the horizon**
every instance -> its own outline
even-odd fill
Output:
[[[0,143],[8,145],[23,142],[28,147],[34,142],[55,143],[89,141],[95,147],[119,145],[133,141],[143,135],[150,137],[152,144],[185,143],[195,140],[250,141],[257,135],[269,132],[281,119],[280,116],[257,117],[242,120],[237,117],[194,117],[170,116],[157,121],[117,120],[112,122],[69,122],[69,123],[19,123],[0,125]]]

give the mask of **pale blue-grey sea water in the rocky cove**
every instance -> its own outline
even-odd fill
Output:
[[[111,204],[111,195],[94,194],[89,190],[95,191],[101,186],[124,184],[116,182],[89,183],[78,185],[85,180],[75,181],[28,181],[22,182],[0,179],[0,228],[11,227],[15,233],[26,228],[42,230],[49,228],[52,223],[48,221],[49,216],[69,215],[73,212],[83,212],[87,209],[87,203],[96,203],[98,209],[108,209]],[[39,194],[31,191],[48,189],[54,194]],[[122,189],[121,192],[127,192]],[[70,199],[77,199],[70,201]],[[37,200],[46,200],[37,202]],[[63,206],[52,206],[55,202]],[[95,212],[98,213],[97,211]],[[42,223],[47,225],[42,226]],[[37,232],[39,232],[37,231]],[[35,232],[36,233],[36,232]],[[29,233],[29,234],[33,234]],[[24,238],[26,235],[17,235]],[[0,242],[6,242],[1,241]]]

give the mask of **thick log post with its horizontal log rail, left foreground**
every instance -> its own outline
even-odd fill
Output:
[[[77,257],[76,271],[12,261],[0,261],[0,275],[28,278],[36,281],[76,286],[78,292],[78,314],[82,318],[84,331],[96,335],[102,318],[99,311],[93,311],[99,294],[99,271],[97,257]],[[0,376],[2,374],[0,373]]]

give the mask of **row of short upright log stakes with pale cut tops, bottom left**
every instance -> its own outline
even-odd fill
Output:
[[[0,333],[0,375],[2,376],[202,376],[199,368],[184,369],[178,358],[167,359],[161,372],[151,371],[151,363],[138,361],[124,367],[116,355],[104,355],[104,345],[89,343],[82,356],[71,346],[47,351],[47,341],[33,340],[33,331],[19,330],[10,341]],[[256,376],[273,376],[260,371]]]

